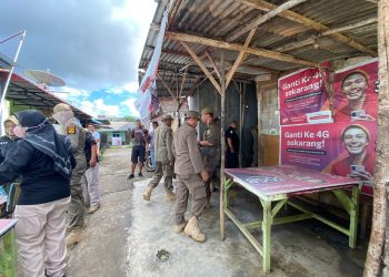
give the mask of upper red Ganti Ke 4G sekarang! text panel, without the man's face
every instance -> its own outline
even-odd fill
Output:
[[[315,123],[309,115],[331,122],[328,95],[319,69],[305,69],[278,80],[280,125]],[[308,115],[308,116],[307,116]],[[316,122],[319,123],[319,122]]]

